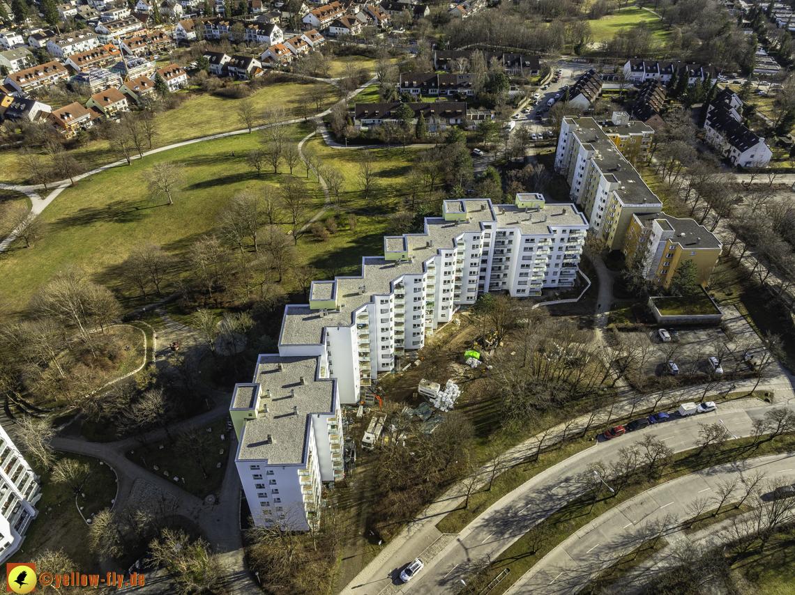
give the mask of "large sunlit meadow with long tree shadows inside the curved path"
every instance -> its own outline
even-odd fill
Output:
[[[305,126],[291,126],[289,131],[294,140],[307,133]],[[190,245],[211,233],[219,211],[236,192],[264,184],[278,186],[287,178],[280,173],[258,179],[250,170],[244,154],[257,143],[258,134],[253,133],[186,145],[65,189],[44,212],[48,236],[34,248],[19,249],[0,261],[9,303],[25,307],[60,265],[74,261],[84,265],[93,280],[110,288],[122,300],[122,307],[135,305],[139,292],[122,279],[119,268],[134,247],[153,241],[184,261]],[[142,173],[160,160],[185,168],[188,183],[172,207],[153,205],[146,197]],[[303,177],[305,170],[296,169],[295,174]],[[317,189],[316,178],[310,178],[308,191],[314,194]],[[322,202],[315,199],[315,206]]]

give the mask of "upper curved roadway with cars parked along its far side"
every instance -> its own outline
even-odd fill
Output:
[[[743,408],[752,403],[758,406]],[[735,408],[731,408],[732,406]],[[750,435],[754,419],[760,419],[772,407],[773,405],[762,404],[761,401],[733,401],[724,404],[719,411],[689,419],[673,419],[659,427],[649,427],[622,436],[618,440],[597,443],[503,496],[464,528],[444,551],[430,560],[415,581],[392,592],[413,595],[456,593],[460,587],[460,579],[466,576],[472,563],[496,558],[541,520],[587,491],[589,485],[581,483],[578,477],[588,473],[596,462],[609,464],[614,461],[620,446],[629,446],[639,442],[647,434],[656,434],[675,452],[688,450],[696,446],[698,424],[715,423],[718,419],[723,419],[723,423],[734,435],[747,436]],[[795,411],[795,404],[784,407]],[[391,562],[394,566],[382,566],[382,578],[367,585],[368,591],[363,593],[378,593],[390,584],[397,587],[400,571],[420,553],[421,547],[415,547],[413,552],[404,552],[404,558],[393,557]]]

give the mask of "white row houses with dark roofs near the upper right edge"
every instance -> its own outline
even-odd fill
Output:
[[[743,124],[743,101],[729,88],[709,104],[704,131],[707,144],[721,151],[733,165],[764,167],[773,157],[765,139]]]

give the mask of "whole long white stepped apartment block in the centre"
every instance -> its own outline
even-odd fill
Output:
[[[362,387],[461,306],[484,292],[573,287],[588,222],[573,204],[516,198],[446,200],[425,233],[385,237],[384,255],[363,257],[361,276],[315,281],[308,304],[285,307],[278,354],[259,357],[230,408],[255,521],[300,509],[298,528],[312,522],[320,482],[343,477],[340,404],[358,403]]]

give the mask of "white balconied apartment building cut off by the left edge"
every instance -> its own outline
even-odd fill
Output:
[[[25,540],[33,508],[41,498],[39,477],[17,446],[0,427],[0,562],[5,562]]]

